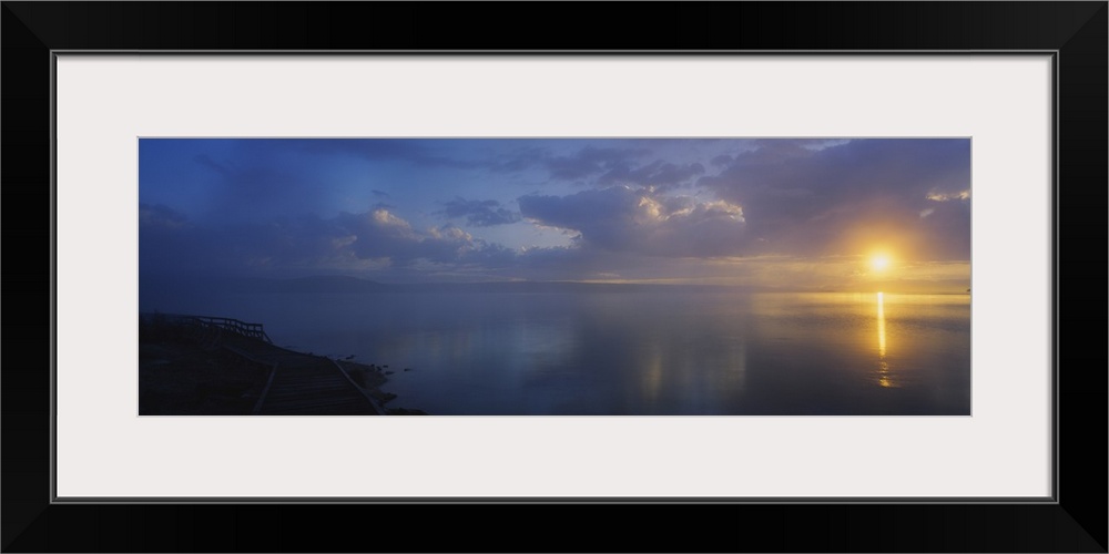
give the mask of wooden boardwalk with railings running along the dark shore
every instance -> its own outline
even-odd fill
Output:
[[[380,416],[373,399],[334,360],[258,340],[230,338],[224,348],[269,366],[254,407],[258,416]]]

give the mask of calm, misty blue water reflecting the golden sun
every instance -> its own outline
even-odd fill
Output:
[[[732,291],[240,294],[162,311],[388,365],[431,414],[970,413],[970,297]],[[410,368],[411,371],[404,371]]]

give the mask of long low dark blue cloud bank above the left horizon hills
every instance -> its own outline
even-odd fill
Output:
[[[213,227],[185,222],[165,206],[140,209],[140,273],[295,276],[417,264],[496,268],[515,260],[512,250],[457,226],[416,229],[385,208]]]

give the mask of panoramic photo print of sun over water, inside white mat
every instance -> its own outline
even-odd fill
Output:
[[[971,141],[140,138],[140,416],[970,416]]]

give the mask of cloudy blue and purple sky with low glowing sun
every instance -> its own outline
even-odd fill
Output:
[[[142,138],[140,277],[969,287],[969,138]]]

